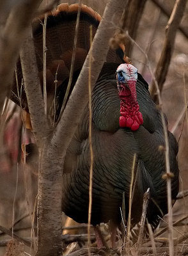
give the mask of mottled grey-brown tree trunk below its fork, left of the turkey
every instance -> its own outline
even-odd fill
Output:
[[[38,175],[38,256],[61,255],[61,163],[51,145],[43,145]]]

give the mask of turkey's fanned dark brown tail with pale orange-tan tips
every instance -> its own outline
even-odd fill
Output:
[[[74,49],[75,26],[77,22],[78,4],[60,4],[54,12],[47,13],[46,26],[46,79],[47,79],[47,108],[48,112],[52,105],[55,95],[55,88],[61,86],[61,99],[65,96],[68,77],[70,76],[70,67],[72,63],[72,54]],[[75,47],[74,83],[79,76],[84,60],[90,50],[90,27],[92,27],[92,39],[100,23],[100,15],[82,4],[80,10],[79,28],[77,34],[77,45]],[[35,44],[36,61],[38,66],[38,76],[41,86],[43,84],[43,21],[44,15],[33,20],[33,41]],[[123,50],[121,48],[113,50],[109,49],[106,58],[107,62],[122,63]],[[20,60],[17,61],[17,80],[19,91],[22,91],[21,104],[22,108],[27,112],[26,94],[21,89],[22,84],[22,68]],[[54,83],[56,81],[56,83]],[[56,85],[56,86],[55,86]],[[73,84],[74,85],[74,84]],[[73,87],[73,86],[72,86]],[[43,88],[43,86],[42,86]],[[63,95],[62,95],[63,91]],[[16,79],[13,83],[11,99],[19,104],[19,95],[17,93]]]

